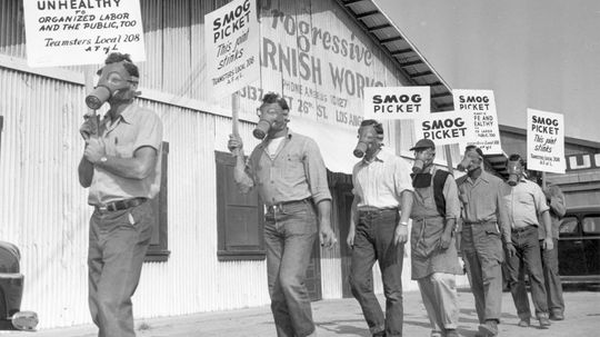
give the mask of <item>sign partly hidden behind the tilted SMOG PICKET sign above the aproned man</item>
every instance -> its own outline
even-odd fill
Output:
[[[474,140],[463,145],[476,145],[486,153],[502,153],[496,99],[492,90],[452,90],[454,110],[473,116]]]

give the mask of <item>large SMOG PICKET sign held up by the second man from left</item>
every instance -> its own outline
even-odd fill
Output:
[[[214,98],[259,79],[254,0],[236,0],[204,16],[207,68]]]

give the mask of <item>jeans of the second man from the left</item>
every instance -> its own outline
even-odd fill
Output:
[[[264,242],[271,311],[279,337],[314,333],[310,297],[304,285],[317,217],[310,201],[278,207],[266,216]]]

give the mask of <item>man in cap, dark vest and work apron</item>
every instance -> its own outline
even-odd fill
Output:
[[[410,150],[414,151],[414,200],[410,212],[412,279],[421,290],[431,337],[454,337],[459,320],[454,275],[462,274],[454,242],[454,226],[460,217],[458,188],[452,176],[433,163],[433,141],[421,139]]]

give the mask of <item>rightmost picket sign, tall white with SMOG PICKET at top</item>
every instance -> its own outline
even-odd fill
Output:
[[[562,113],[527,109],[527,168],[564,174]]]

